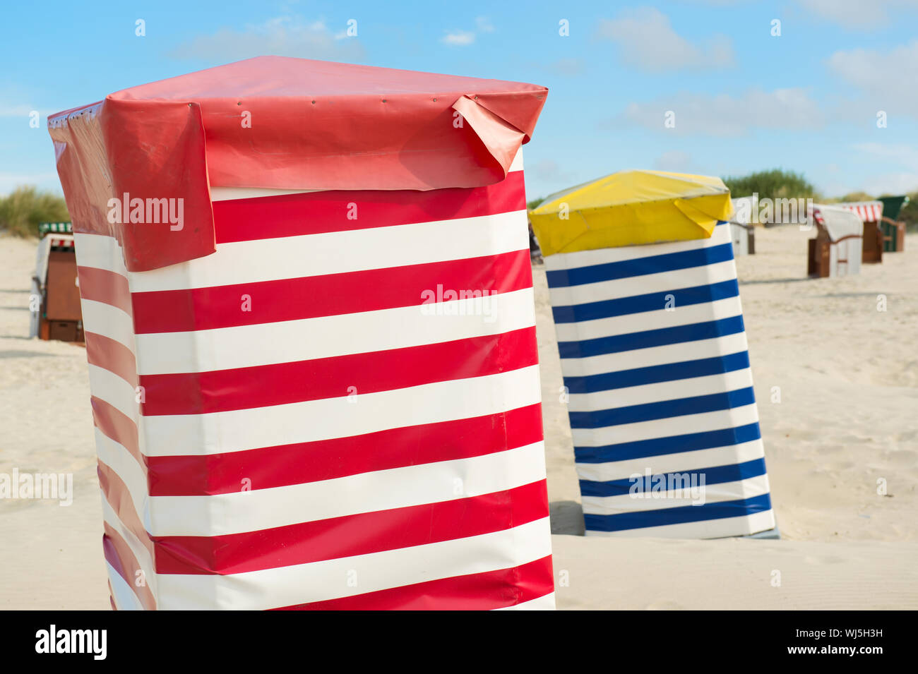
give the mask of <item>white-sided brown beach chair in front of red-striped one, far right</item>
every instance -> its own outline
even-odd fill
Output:
[[[807,245],[807,276],[824,278],[860,273],[864,223],[856,211],[813,204],[810,214],[816,236]]]

